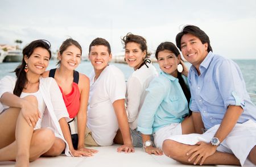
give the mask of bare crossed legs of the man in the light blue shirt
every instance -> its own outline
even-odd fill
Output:
[[[181,144],[173,140],[165,140],[163,143],[163,152],[166,156],[173,158],[176,161],[181,162],[182,164],[193,164],[193,160],[196,160],[195,157],[192,161],[188,161],[187,152],[196,147],[195,145],[186,145]],[[212,156],[209,156],[205,161],[205,165],[241,165],[240,161],[236,156],[223,153],[216,152]]]

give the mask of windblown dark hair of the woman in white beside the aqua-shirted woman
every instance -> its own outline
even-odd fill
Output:
[[[126,44],[130,42],[139,44],[142,52],[146,51],[146,58],[150,57],[151,53],[147,51],[147,41],[146,39],[144,39],[144,37],[139,35],[134,35],[134,34],[131,34],[131,32],[128,32],[126,36],[122,38],[122,41],[125,47],[126,47]]]

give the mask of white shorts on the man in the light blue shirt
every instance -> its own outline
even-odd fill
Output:
[[[220,124],[210,128],[202,135],[192,133],[188,135],[171,136],[168,139],[179,143],[195,145],[199,141],[209,143]],[[224,141],[218,146],[217,151],[232,153],[239,160],[241,165],[245,163],[251,149],[256,145],[256,123],[248,120],[245,123],[237,123]]]

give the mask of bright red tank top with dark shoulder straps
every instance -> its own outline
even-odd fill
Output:
[[[59,86],[60,87],[60,86]],[[77,83],[72,83],[72,91],[69,94],[64,94],[60,87],[63,100],[68,110],[69,118],[74,118],[80,108],[80,91]]]

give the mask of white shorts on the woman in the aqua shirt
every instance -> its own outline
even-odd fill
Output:
[[[173,135],[182,135],[181,123],[172,123],[153,133],[155,147],[162,149],[163,141]]]

